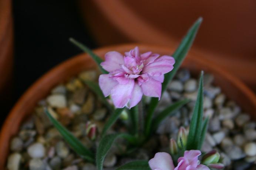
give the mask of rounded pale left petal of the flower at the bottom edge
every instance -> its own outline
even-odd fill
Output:
[[[172,157],[166,152],[156,153],[148,163],[152,170],[174,170]]]

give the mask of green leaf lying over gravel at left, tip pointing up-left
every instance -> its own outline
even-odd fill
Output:
[[[65,141],[68,143],[68,145],[70,145],[70,147],[82,158],[90,162],[94,162],[94,154],[88,148],[82,145],[82,143],[77,138],[75,138],[75,136],[64,126],[62,126],[60,122],[54,119],[47,109],[45,109],[45,112],[55,128],[60,132]]]

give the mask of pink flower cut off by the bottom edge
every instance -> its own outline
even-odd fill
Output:
[[[184,156],[178,159],[178,166],[174,168],[171,155],[158,152],[148,163],[152,170],[210,170],[207,166],[199,164],[199,155],[200,150],[185,151]]]

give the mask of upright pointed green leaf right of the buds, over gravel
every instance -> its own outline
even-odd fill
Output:
[[[198,96],[196,99],[195,107],[191,123],[189,126],[187,150],[199,150],[200,138],[202,132],[202,121],[203,121],[203,72],[199,80]]]

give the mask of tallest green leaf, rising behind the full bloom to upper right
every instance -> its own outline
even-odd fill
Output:
[[[186,36],[182,39],[181,44],[178,46],[178,48],[172,55],[175,59],[174,69],[171,72],[165,74],[165,79],[164,79],[164,82],[162,83],[162,93],[164,93],[164,91],[167,88],[167,85],[173,79],[174,75],[176,74],[177,70],[179,69],[183,60],[185,59],[186,54],[188,53],[190,47],[193,44],[193,41],[196,37],[196,33],[198,31],[198,28],[199,28],[201,22],[202,22],[202,18],[200,17],[189,29]],[[148,136],[150,134],[151,122],[152,122],[153,114],[154,114],[154,111],[155,111],[155,108],[156,108],[156,105],[158,104],[158,102],[159,102],[158,98],[151,98],[148,114],[146,117],[146,124],[145,124],[146,136]]]

